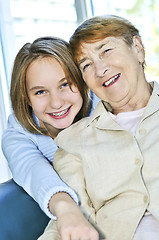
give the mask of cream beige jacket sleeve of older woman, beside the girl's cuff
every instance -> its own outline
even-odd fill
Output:
[[[86,191],[81,159],[59,148],[54,156],[53,166],[63,181],[78,194],[85,217],[95,224],[95,209]]]

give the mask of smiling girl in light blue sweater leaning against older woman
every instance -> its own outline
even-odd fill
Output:
[[[72,200],[78,202],[76,194],[50,164],[57,134],[91,110],[89,90],[68,43],[45,37],[25,44],[15,58],[10,95],[14,115],[9,117],[2,148],[14,180],[50,218],[56,215],[62,239],[72,239],[74,231],[82,239],[85,228],[90,239],[98,237]]]

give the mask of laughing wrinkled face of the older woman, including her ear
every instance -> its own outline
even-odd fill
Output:
[[[122,107],[137,92],[143,76],[143,46],[134,37],[132,47],[121,38],[107,37],[98,42],[82,43],[78,58],[88,87],[112,107]],[[140,93],[141,94],[141,93]]]

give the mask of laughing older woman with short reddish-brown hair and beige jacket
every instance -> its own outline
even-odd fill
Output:
[[[159,85],[146,80],[139,31],[117,16],[95,17],[76,29],[70,45],[102,101],[58,135],[54,168],[103,238],[158,240]]]

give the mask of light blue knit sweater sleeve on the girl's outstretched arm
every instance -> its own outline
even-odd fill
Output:
[[[49,157],[53,159],[57,149],[54,141],[41,135],[41,145],[43,144],[51,149]],[[39,203],[48,217],[55,218],[48,209],[48,203],[57,192],[67,192],[78,203],[75,192],[59,178],[43,154],[35,134],[22,128],[13,116],[9,118],[8,128],[2,136],[2,150],[13,179]]]

